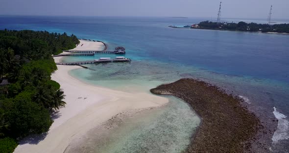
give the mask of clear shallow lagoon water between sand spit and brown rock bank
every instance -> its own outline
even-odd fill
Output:
[[[190,106],[174,97],[162,108],[125,118],[112,129],[95,128],[66,153],[181,153],[200,123]]]

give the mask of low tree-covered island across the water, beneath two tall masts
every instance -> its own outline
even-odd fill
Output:
[[[237,23],[217,23],[217,22],[209,22],[203,21],[199,24],[194,24],[191,27],[177,27],[177,26],[169,26],[173,28],[195,28],[195,29],[212,29],[212,30],[232,30],[232,31],[251,31],[251,32],[274,32],[274,33],[289,33],[289,24],[257,24],[257,23],[245,23],[239,22]]]

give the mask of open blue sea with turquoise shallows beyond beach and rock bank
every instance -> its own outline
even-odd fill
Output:
[[[92,65],[90,68],[95,71],[78,69],[71,72],[87,82],[120,90],[124,90],[123,85],[146,86],[148,92],[149,88],[182,77],[201,78],[248,98],[252,106],[266,110],[264,114],[273,115],[273,107],[276,107],[279,115],[284,115],[282,119],[287,121],[289,34],[168,27],[204,20],[210,19],[0,16],[0,29],[67,32],[78,38],[104,41],[108,50],[116,46],[126,48],[125,56],[133,60],[130,64]],[[96,55],[100,56],[111,55]],[[289,138],[288,122],[284,126],[282,134],[287,135],[283,139],[286,140]]]

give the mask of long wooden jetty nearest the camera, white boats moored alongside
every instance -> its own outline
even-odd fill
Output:
[[[93,60],[93,61],[82,61],[82,62],[63,62],[56,63],[57,65],[82,65],[82,64],[97,64],[97,63],[110,63],[110,62],[130,62],[131,59],[110,59],[110,60]]]

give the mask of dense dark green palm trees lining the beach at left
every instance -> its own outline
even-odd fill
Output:
[[[75,35],[0,30],[0,151],[11,153],[29,134],[47,132],[64,92],[51,80],[52,54],[79,44]]]

